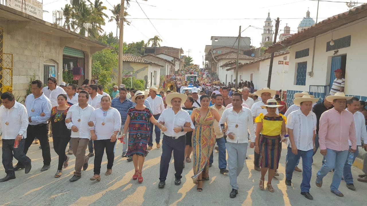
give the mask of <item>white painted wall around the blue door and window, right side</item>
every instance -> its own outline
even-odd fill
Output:
[[[367,47],[367,18],[349,23],[333,30],[333,39],[351,35],[350,47],[338,49],[337,55],[346,54],[345,89],[348,95],[366,96],[366,90],[361,86],[361,82],[366,81],[366,52]],[[294,85],[294,78],[297,71],[297,63],[307,61],[307,72],[312,67],[313,38],[292,45],[290,49],[290,65],[286,88],[291,90],[308,91],[309,85],[328,85],[330,82],[331,57],[334,51],[326,52],[326,43],[331,40],[331,31],[320,34],[316,38],[315,63],[313,77],[306,77],[306,85]],[[295,59],[295,52],[302,49],[309,49],[309,56]]]

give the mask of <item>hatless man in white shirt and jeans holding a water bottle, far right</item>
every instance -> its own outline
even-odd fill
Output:
[[[348,108],[346,108],[345,110],[353,114],[354,125],[356,128],[357,150],[355,151],[353,155],[353,161],[352,161],[352,164],[353,164],[353,162],[355,161],[355,159],[358,156],[358,146],[362,146],[360,140],[363,140],[363,143],[367,143],[367,131],[366,131],[364,115],[358,111],[359,110],[359,99],[353,97],[352,99],[347,100],[346,106]],[[349,150],[351,147],[352,147],[352,143],[349,141]],[[349,154],[350,152],[348,152],[347,157],[349,157]],[[351,166],[352,165],[348,164],[348,158],[347,158],[344,164],[343,177],[344,177],[346,187],[348,187],[349,190],[356,190],[353,184],[352,171],[350,169]]]

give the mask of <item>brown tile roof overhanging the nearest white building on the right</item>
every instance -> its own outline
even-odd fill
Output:
[[[279,51],[284,47],[289,47],[293,44],[297,44],[301,41],[315,37],[319,34],[329,32],[333,29],[336,29],[338,27],[341,27],[358,19],[365,18],[366,16],[367,16],[367,4],[362,4],[359,7],[355,7],[344,13],[337,14],[335,16],[331,16],[330,18],[324,19],[323,21],[306,28],[301,32],[293,34],[290,37],[287,37],[283,41],[278,41],[277,43],[268,47],[265,50],[265,52],[272,53],[275,51]]]

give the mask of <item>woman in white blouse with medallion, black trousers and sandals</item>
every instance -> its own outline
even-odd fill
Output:
[[[88,122],[91,132],[91,140],[94,140],[94,176],[90,180],[101,180],[101,163],[103,154],[107,154],[107,170],[105,175],[112,173],[113,160],[117,134],[121,128],[120,112],[111,107],[110,96],[103,96],[101,107],[96,108]]]

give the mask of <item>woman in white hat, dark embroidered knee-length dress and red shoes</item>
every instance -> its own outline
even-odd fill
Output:
[[[121,136],[121,138],[124,138],[126,136],[126,132],[129,131],[128,150],[126,156],[132,156],[132,162],[135,167],[135,173],[132,176],[132,179],[138,179],[139,183],[143,182],[141,171],[145,156],[148,154],[146,148],[150,135],[149,122],[157,125],[163,132],[166,130],[165,126],[157,123],[157,120],[153,117],[152,111],[144,105],[144,101],[147,96],[147,94],[138,90],[131,98],[131,101],[135,102],[137,105],[135,107],[131,107],[127,111],[124,131]]]

